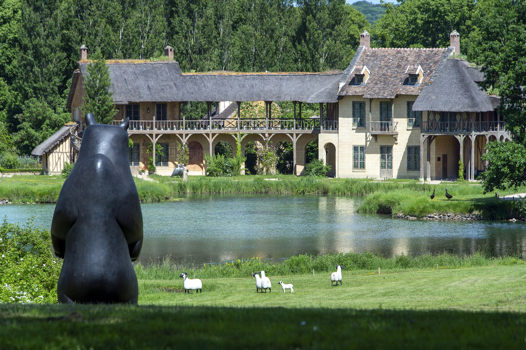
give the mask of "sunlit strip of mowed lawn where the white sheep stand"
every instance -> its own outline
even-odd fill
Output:
[[[139,304],[526,312],[524,265],[390,270],[380,275],[343,270],[343,285],[337,287],[331,287],[329,273],[267,277],[272,292],[266,294],[256,293],[251,277],[203,279],[203,293],[197,295],[183,293],[183,279],[139,280]],[[294,294],[284,294],[279,281],[294,284]]]

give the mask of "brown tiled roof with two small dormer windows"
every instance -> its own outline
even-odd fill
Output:
[[[339,96],[363,95],[364,98],[395,98],[396,95],[419,95],[439,69],[439,65],[451,55],[449,48],[363,48],[357,50],[358,59],[351,61],[345,84]],[[367,66],[371,75],[364,85],[354,85],[355,76],[350,72],[355,66]],[[424,77],[419,85],[408,85],[408,66],[421,66]],[[356,71],[355,71],[356,73]]]

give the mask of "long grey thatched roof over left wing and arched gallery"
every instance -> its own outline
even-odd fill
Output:
[[[86,75],[87,62],[80,62]],[[342,73],[190,73],[176,61],[108,64],[118,102],[302,101],[337,102]],[[67,106],[78,77],[74,74]],[[75,84],[74,84],[75,83]]]

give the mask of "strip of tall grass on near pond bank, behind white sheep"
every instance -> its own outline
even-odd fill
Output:
[[[516,265],[526,264],[520,256],[500,256],[492,258],[489,254],[476,252],[472,255],[454,255],[450,253],[423,254],[417,256],[399,255],[395,258],[385,258],[381,254],[370,252],[338,253],[325,255],[296,255],[282,262],[271,262],[254,257],[236,261],[196,266],[183,266],[174,263],[169,257],[159,262],[149,264],[136,263],[135,272],[142,280],[173,280],[182,272],[189,276],[194,273],[199,277],[247,277],[254,272],[265,270],[268,275],[308,274],[335,271],[336,265],[342,265],[346,271],[358,270],[396,270],[396,269],[462,269],[476,266]]]

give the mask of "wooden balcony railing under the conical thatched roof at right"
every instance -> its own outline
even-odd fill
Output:
[[[426,133],[507,131],[504,121],[422,121],[421,125],[421,132]]]

